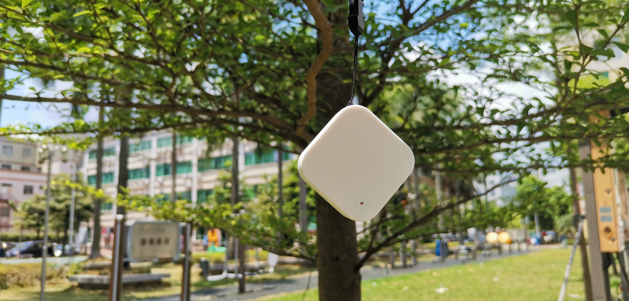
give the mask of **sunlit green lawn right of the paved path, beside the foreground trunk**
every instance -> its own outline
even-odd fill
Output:
[[[364,301],[551,301],[557,300],[570,249],[542,249],[484,263],[469,263],[419,273],[392,276],[362,283]],[[574,258],[567,293],[583,296],[578,252]],[[439,290],[443,287],[446,290]],[[303,292],[259,300],[301,300]],[[318,300],[309,290],[303,300]],[[583,300],[569,295],[565,300]]]

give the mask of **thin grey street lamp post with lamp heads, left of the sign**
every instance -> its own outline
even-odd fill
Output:
[[[48,215],[50,215],[50,175],[52,174],[52,156],[55,154],[55,150],[60,149],[62,151],[62,160],[67,161],[67,147],[65,146],[57,146],[57,147],[48,147],[48,145],[44,144],[42,148],[39,150],[40,152],[40,163],[43,163],[46,159],[48,159],[48,176],[47,176],[47,186],[46,186],[46,210],[44,213],[44,225],[43,225],[43,244],[42,244],[42,278],[40,288],[40,301],[45,301],[44,293],[46,288],[46,258],[48,256]]]

